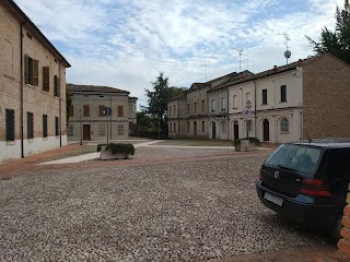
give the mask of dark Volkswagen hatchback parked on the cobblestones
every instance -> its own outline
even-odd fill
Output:
[[[262,204],[338,239],[350,182],[350,140],[281,144],[262,164],[256,183]]]

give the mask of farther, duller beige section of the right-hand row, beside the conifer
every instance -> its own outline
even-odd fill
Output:
[[[183,95],[171,99],[168,136],[228,140],[228,88],[222,86],[250,74],[233,72],[206,83],[194,83]]]

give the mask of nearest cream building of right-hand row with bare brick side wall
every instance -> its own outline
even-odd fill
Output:
[[[230,85],[230,140],[282,143],[350,136],[350,67],[331,55],[275,67]],[[250,102],[252,123],[242,111]]]

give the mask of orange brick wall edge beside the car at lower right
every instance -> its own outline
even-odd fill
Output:
[[[341,224],[343,225],[340,231],[342,239],[338,241],[338,248],[350,258],[350,183],[347,203],[348,205],[343,210],[343,217],[341,219]]]

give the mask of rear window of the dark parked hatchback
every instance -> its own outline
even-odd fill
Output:
[[[266,160],[265,165],[312,175],[315,172],[320,148],[307,145],[282,144]]]

